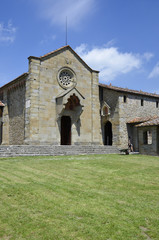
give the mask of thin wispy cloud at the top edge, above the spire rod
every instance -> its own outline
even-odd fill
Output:
[[[40,15],[52,24],[75,27],[94,9],[95,0],[34,0]]]

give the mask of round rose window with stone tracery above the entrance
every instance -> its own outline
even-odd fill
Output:
[[[58,74],[58,82],[62,88],[70,88],[76,84],[75,74],[71,69],[64,68]]]

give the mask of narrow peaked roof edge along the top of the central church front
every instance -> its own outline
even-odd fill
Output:
[[[66,45],[66,46],[63,46],[63,47],[61,47],[61,48],[59,48],[59,49],[56,49],[56,50],[54,50],[54,51],[52,51],[52,52],[49,52],[49,53],[47,53],[47,54],[45,54],[45,55],[43,55],[43,56],[41,56],[41,57],[35,57],[35,56],[30,56],[30,57],[28,57],[28,59],[30,60],[30,59],[38,59],[38,60],[45,60],[45,59],[47,59],[48,57],[51,57],[51,56],[53,56],[53,55],[55,55],[55,54],[58,54],[60,51],[65,51],[66,49],[69,49],[74,55],[76,55],[76,57],[79,59],[79,61],[85,66],[85,67],[87,67],[91,72],[97,72],[97,73],[99,73],[99,71],[96,71],[96,70],[93,70],[92,68],[90,68],[88,65],[87,65],[87,63],[85,63],[84,61],[83,61],[83,59],[70,47],[70,45]]]

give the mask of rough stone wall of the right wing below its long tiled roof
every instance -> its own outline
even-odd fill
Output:
[[[107,120],[112,123],[113,144],[119,147],[127,147],[128,131],[127,122],[136,117],[159,116],[159,108],[156,101],[159,99],[149,96],[117,92],[103,89],[103,100],[110,106],[110,116]],[[126,96],[126,102],[124,102]],[[143,106],[141,106],[143,99]]]

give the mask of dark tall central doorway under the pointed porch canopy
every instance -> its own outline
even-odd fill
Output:
[[[61,145],[71,145],[71,118],[61,117]]]

